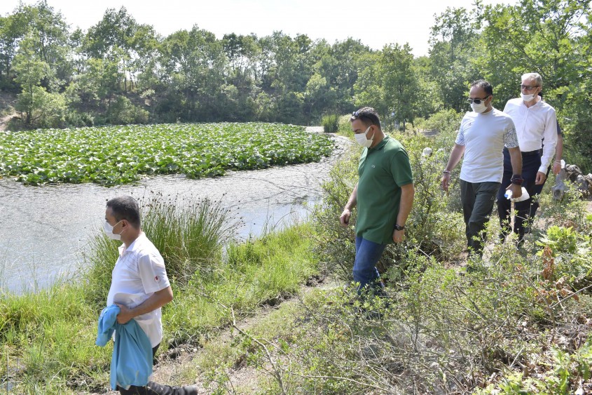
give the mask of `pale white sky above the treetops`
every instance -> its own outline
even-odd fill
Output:
[[[224,34],[268,36],[282,31],[294,37],[307,34],[310,39],[329,43],[347,37],[359,39],[373,49],[389,43],[409,43],[413,55],[428,54],[429,29],[434,15],[446,7],[473,8],[474,0],[48,0],[72,27],[83,30],[96,25],[107,8],[125,6],[138,23],[152,25],[167,36],[193,25],[221,39]],[[483,0],[483,4],[516,4],[517,0]],[[36,1],[22,0],[24,4]],[[2,0],[0,15],[13,13],[18,0]]]

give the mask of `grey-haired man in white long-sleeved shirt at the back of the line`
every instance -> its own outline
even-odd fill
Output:
[[[524,237],[524,227],[528,226],[532,196],[535,195],[535,185],[542,185],[546,180],[547,168],[553,160],[555,146],[557,144],[557,116],[555,109],[539,97],[543,80],[537,73],[528,73],[522,76],[521,97],[508,100],[504,112],[511,116],[516,126],[518,145],[522,152],[522,176],[524,187],[529,199],[517,202],[517,211],[514,217],[514,233],[518,234],[519,243]],[[542,140],[544,147],[542,156],[540,149]],[[510,228],[510,201],[504,199],[504,182],[509,182],[512,177],[509,153],[504,151],[504,178],[502,187],[497,193],[497,212],[500,215],[502,234],[500,239],[511,231]]]

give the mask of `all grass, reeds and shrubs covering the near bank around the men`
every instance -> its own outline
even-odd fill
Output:
[[[347,286],[353,227],[340,227],[337,218],[355,184],[357,147],[333,168],[307,222],[244,243],[227,243],[240,218],[216,202],[143,200],[146,233],[163,252],[175,293],[163,309],[160,353],[203,347],[180,376],[215,394],[250,393],[252,383],[230,385],[233,370],[245,366],[259,372],[264,394],[590,389],[592,215],[577,188],[563,201],[544,193],[521,250],[512,239],[497,243],[494,220],[483,260],[467,258],[460,186],[453,183],[450,194],[439,189],[454,116],[430,119],[441,125],[432,138],[395,134],[408,148],[417,192],[406,242],[388,246],[379,265],[385,298],[360,299]],[[2,385],[24,394],[106,391],[110,349],[94,340],[116,243],[99,232],[85,258],[88,272],[75,281],[1,295]],[[300,292],[319,276],[342,286]],[[251,329],[235,331],[232,342],[216,342],[223,328],[261,305],[294,296]]]

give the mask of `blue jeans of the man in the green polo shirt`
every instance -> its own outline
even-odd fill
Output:
[[[359,288],[370,286],[382,288],[380,283],[380,274],[376,269],[376,264],[383,255],[386,244],[374,243],[366,240],[362,236],[356,236],[356,260],[354,262],[354,281],[359,283]]]

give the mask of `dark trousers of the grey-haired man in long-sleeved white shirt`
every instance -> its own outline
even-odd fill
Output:
[[[523,187],[528,191],[530,195],[529,199],[514,203],[514,209],[516,210],[516,216],[514,217],[514,233],[520,236],[520,239],[524,236],[525,222],[530,217],[530,206],[532,205],[532,196],[535,194],[535,180],[537,179],[537,173],[541,166],[541,154],[537,151],[523,152],[522,153],[522,178],[524,179]],[[512,178],[512,163],[510,160],[510,154],[507,149],[504,148],[504,177],[502,178],[502,185],[500,191],[497,192],[497,213],[500,215],[500,225],[504,234],[509,234],[510,228],[510,210],[511,201],[506,199],[504,194],[506,188],[511,184]]]

